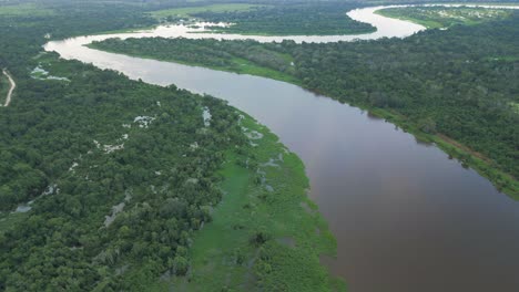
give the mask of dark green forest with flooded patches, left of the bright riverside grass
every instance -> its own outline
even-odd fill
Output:
[[[22,84],[22,111],[2,115],[2,209],[35,198],[2,233],[3,288],[139,290],[169,269],[184,274],[192,233],[222,197],[223,152],[245,142],[237,114],[175,87],[51,64],[70,66],[71,82]],[[214,117],[205,131],[203,106]]]

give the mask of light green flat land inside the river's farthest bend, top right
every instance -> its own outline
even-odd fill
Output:
[[[405,7],[381,9],[375,13],[407,20],[428,29],[441,29],[457,24],[474,25],[485,21],[503,19],[511,12],[505,9],[488,8]]]

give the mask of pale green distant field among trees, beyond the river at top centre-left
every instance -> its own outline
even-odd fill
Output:
[[[203,7],[186,7],[186,8],[174,8],[165,9],[151,12],[151,15],[155,19],[166,19],[166,18],[190,18],[192,14],[200,12],[240,12],[240,11],[250,11],[252,9],[261,8],[265,6],[258,4],[244,4],[244,3],[227,3],[227,4],[212,4]]]

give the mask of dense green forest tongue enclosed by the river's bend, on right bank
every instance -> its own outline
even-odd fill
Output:
[[[518,75],[518,34],[516,12],[502,21],[430,30],[403,40],[261,44],[140,39],[108,40],[95,46],[195,64],[214,54],[222,63],[240,55],[287,75],[286,80],[296,77],[295,83],[308,90],[377,109],[406,129],[441,144],[513,195],[518,194],[519,176],[519,116],[515,106],[519,84],[510,81]],[[176,52],[185,48],[190,53],[179,56]],[[248,54],[257,48],[263,48],[262,55],[272,56],[272,61]],[[197,52],[200,59],[191,58]],[[289,55],[286,60],[293,60],[294,66],[282,62],[279,55]],[[458,143],[470,149],[448,146],[460,146]]]

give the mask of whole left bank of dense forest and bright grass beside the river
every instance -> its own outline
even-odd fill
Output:
[[[303,165],[268,129],[211,96],[42,52],[48,39],[153,24],[142,11],[162,4],[0,8],[0,67],[18,85],[0,107],[0,291],[164,291],[175,281],[218,291],[340,286],[318,261],[334,254],[335,240],[301,205],[316,209]],[[245,126],[268,136],[262,152]],[[279,152],[282,174],[262,166]],[[241,221],[223,213],[231,222],[212,227],[225,194]],[[210,241],[196,240],[207,232]],[[206,242],[220,246],[193,250]],[[232,283],[204,274],[213,249],[221,251],[214,273],[232,273]]]

